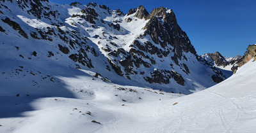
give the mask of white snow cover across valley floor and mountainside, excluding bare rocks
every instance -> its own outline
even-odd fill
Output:
[[[12,9],[17,6],[16,2],[13,4],[10,1],[4,4]],[[173,79],[172,84],[166,85],[145,83],[141,80],[142,76],[133,76],[133,80],[127,80],[116,76],[113,71],[102,69],[102,66],[107,64],[105,62],[108,62],[106,57],[109,56],[108,52],[102,51],[101,48],[111,40],[116,43],[116,46],[109,46],[112,50],[124,48],[129,52],[129,45],[143,34],[142,28],[148,20],[129,15],[132,22],[126,22],[127,16],[116,15],[113,18],[113,14],[103,15],[104,10],[97,6],[97,13],[102,15],[102,18],[95,20],[97,28],[93,28],[92,24],[86,21],[70,17],[77,14],[83,6],[74,8],[49,4],[60,13],[59,18],[52,18],[52,22],[66,22],[60,27],[61,30],[70,34],[72,31],[79,31],[77,36],[88,38],[86,45],[95,48],[97,53],[97,56],[93,56],[88,52],[88,57],[93,60],[95,67],[88,69],[79,64],[81,69],[76,69],[78,63],[69,60],[68,56],[77,51],[70,49],[69,55],[60,53],[56,44],[68,44],[63,43],[58,36],[50,36],[53,41],[37,40],[30,36],[25,39],[8,24],[1,22],[0,25],[6,32],[0,32],[0,132],[255,131],[255,62],[248,62],[228,80],[207,90],[204,89],[215,84],[210,81],[211,75],[207,75],[213,73],[211,69],[200,64],[192,53],[184,53],[188,60],[179,60],[180,64],[187,64],[190,71],[190,74],[182,75],[186,80],[184,87]],[[12,10],[13,14],[6,9],[1,11],[4,15],[10,15],[28,35],[30,32],[37,32],[35,28],[48,30],[47,27],[59,33],[55,26],[50,25],[49,20],[37,20],[20,8]],[[1,15],[1,18],[4,18],[4,15]],[[106,25],[100,22],[101,19]],[[76,26],[72,25],[72,22]],[[120,24],[120,31],[108,26],[117,22]],[[96,34],[102,39],[93,38]],[[109,39],[110,36],[116,36],[118,39]],[[101,43],[98,45],[99,40]],[[152,42],[148,36],[139,41],[141,44],[145,41]],[[156,47],[161,48],[159,45]],[[173,50],[172,46],[169,48]],[[34,51],[37,52],[36,56],[32,55]],[[54,53],[54,56],[48,57],[48,52]],[[157,55],[150,55],[157,64],[150,68],[141,66],[136,69],[138,73],[145,71],[145,76],[149,76],[152,70],[161,69],[184,73],[180,66],[174,65],[171,69],[170,63],[175,64],[171,56],[170,54],[159,59]],[[125,57],[116,58],[124,59]],[[143,60],[149,62],[148,59]],[[102,76],[96,76],[96,72]],[[195,94],[172,94],[162,91],[167,88],[184,94]],[[200,90],[202,91],[198,92]]]

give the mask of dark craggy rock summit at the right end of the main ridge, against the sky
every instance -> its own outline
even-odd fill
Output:
[[[172,45],[174,56],[172,59],[179,64],[178,59],[182,59],[182,52],[191,52],[196,55],[195,48],[191,45],[186,32],[177,24],[175,14],[168,8],[155,8],[147,17],[148,23],[145,25],[145,36],[149,35],[154,43],[165,48]],[[197,55],[196,55],[197,56]],[[186,59],[186,57],[184,57]]]

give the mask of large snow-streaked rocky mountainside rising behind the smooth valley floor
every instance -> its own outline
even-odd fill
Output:
[[[36,69],[51,62],[97,72],[116,83],[184,94],[227,78],[196,54],[168,8],[148,13],[140,6],[125,15],[96,3],[46,0],[6,0],[0,7],[0,50],[6,60]]]

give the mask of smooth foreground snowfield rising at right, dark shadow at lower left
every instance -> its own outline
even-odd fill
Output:
[[[255,132],[252,60],[191,95],[115,85],[81,70],[83,76],[58,77],[72,98],[1,95],[0,132]]]

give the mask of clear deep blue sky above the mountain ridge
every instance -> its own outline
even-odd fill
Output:
[[[188,34],[198,55],[220,52],[225,57],[243,55],[256,43],[255,0],[50,0],[59,4],[105,4],[127,13],[143,5],[148,12],[164,6],[172,9],[181,29]]]

